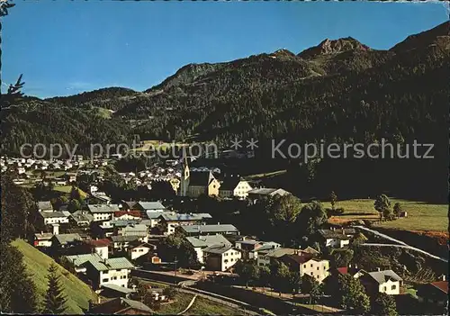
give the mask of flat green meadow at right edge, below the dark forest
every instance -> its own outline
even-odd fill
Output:
[[[392,207],[397,202],[401,203],[403,211],[408,212],[408,217],[396,221],[383,221],[378,223],[377,226],[397,230],[448,230],[448,205],[391,199]],[[324,206],[331,207],[328,202],[324,203]],[[372,199],[339,201],[336,207],[343,207],[345,212],[341,216],[331,217],[330,222],[378,221],[379,219],[379,213],[374,210],[374,200]]]

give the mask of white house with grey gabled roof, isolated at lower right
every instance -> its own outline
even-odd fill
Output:
[[[400,287],[403,282],[401,277],[392,270],[365,272],[361,270],[354,275],[359,278],[361,284],[365,286],[368,294],[386,293],[389,295],[400,294]]]

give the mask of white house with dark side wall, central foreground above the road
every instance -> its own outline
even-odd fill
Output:
[[[204,263],[208,270],[227,271],[241,258],[240,250],[227,245],[204,248]]]

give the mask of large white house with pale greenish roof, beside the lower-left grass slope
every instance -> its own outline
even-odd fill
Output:
[[[103,284],[128,287],[130,270],[134,268],[126,257],[92,258],[82,266],[85,266],[85,275],[92,281],[92,286],[96,290]]]

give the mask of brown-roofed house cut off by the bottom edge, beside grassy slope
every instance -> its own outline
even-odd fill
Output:
[[[147,305],[139,301],[133,301],[124,297],[103,302],[98,305],[89,304],[87,315],[153,315]]]

